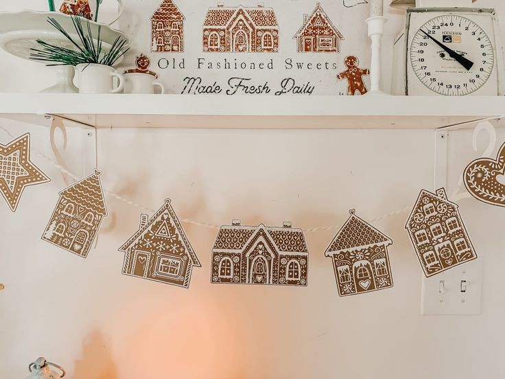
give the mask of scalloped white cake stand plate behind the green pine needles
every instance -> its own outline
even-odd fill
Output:
[[[10,54],[24,59],[30,59],[31,48],[40,48],[40,45],[36,43],[37,39],[54,45],[67,47],[68,49],[75,49],[75,46],[73,46],[67,38],[47,22],[47,17],[49,16],[56,19],[74,41],[79,41],[79,37],[75,33],[75,28],[73,27],[71,16],[60,12],[23,10],[21,12],[0,12],[0,47]],[[82,25],[86,27],[85,22],[83,22]],[[105,50],[110,49],[110,46],[118,36],[128,41],[126,34],[119,30],[112,29],[108,25],[95,23],[94,21],[90,21],[90,25],[93,36],[97,35],[98,26],[102,25],[100,37],[103,41],[102,47]],[[120,62],[121,58],[117,63]]]

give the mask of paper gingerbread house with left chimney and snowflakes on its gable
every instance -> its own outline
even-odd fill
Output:
[[[124,275],[174,286],[189,288],[193,266],[201,266],[170,199],[151,218],[141,214],[139,230],[119,251]]]

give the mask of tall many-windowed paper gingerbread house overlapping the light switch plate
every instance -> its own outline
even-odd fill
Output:
[[[421,190],[405,229],[426,277],[477,258],[458,205],[447,200],[444,188]]]

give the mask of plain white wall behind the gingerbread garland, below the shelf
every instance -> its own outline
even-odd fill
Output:
[[[1,91],[46,85],[42,71],[20,73],[38,65],[3,53],[0,65],[23,80],[3,75]],[[51,154],[47,128],[4,119],[0,126],[14,135],[30,131],[33,147]],[[79,140],[69,133],[71,149]],[[475,153],[471,132],[449,138],[450,194]],[[0,130],[0,142],[9,140]],[[107,129],[99,130],[98,148],[109,190],[154,209],[170,197],[180,218],[217,225],[232,218],[342,225],[351,208],[375,218],[413,205],[433,183],[434,133],[421,130]],[[53,165],[33,160],[53,181],[28,187],[14,214],[0,206],[1,378],[23,378],[38,356],[75,379],[505,377],[502,209],[460,202],[484,260],[482,314],[421,317],[421,268],[403,231],[407,214],[375,222],[395,242],[390,290],[338,297],[323,256],[336,231],[306,234],[307,288],[211,284],[216,231],[193,225],[185,229],[202,268],[185,290],[121,275],[117,248],[136,230],[140,211],[113,198],[86,260],[40,240],[65,185]]]

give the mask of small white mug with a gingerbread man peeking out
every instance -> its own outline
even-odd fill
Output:
[[[156,82],[158,74],[150,71],[151,60],[148,56],[140,54],[135,59],[137,68],[124,71],[124,93],[154,93],[154,88],[159,87],[161,93],[165,93],[165,87]]]

